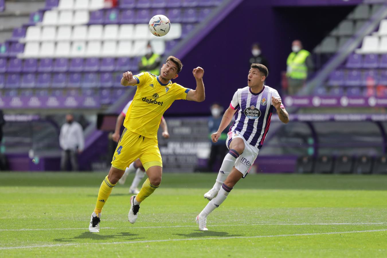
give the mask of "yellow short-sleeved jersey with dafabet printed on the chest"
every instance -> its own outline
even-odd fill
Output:
[[[158,76],[149,72],[139,73],[133,78],[137,80],[137,90],[123,125],[131,132],[157,139],[161,116],[173,101],[186,99],[191,89],[171,81],[163,84]]]

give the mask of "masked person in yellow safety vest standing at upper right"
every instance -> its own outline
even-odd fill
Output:
[[[312,56],[309,51],[302,49],[300,40],[292,43],[292,52],[286,61],[286,76],[288,77],[288,94],[294,95],[300,91],[313,70]]]

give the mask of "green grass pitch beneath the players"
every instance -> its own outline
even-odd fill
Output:
[[[207,218],[216,174],[168,174],[127,220],[129,184],[88,232],[105,173],[0,173],[0,257],[386,257],[387,176],[251,174]]]

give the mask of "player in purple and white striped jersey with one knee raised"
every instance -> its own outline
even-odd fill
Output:
[[[196,223],[199,224],[201,231],[208,230],[207,216],[226,200],[239,179],[245,178],[250,171],[269,130],[273,109],[276,109],[283,123],[289,122],[289,114],[282,105],[278,92],[264,85],[268,73],[264,65],[255,63],[251,65],[247,77],[248,87],[235,92],[219,129],[211,135],[212,141],[217,142],[221,132],[236,113],[235,122],[226,140],[229,152],[224,157],[215,185],[204,194],[204,198],[210,202],[196,217]]]

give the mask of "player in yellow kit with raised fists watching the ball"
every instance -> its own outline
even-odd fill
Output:
[[[130,223],[136,221],[140,203],[160,186],[163,162],[157,142],[157,130],[161,117],[176,99],[201,102],[205,98],[204,70],[201,67],[192,71],[196,80],[195,90],[171,82],[171,79],[178,77],[182,67],[178,58],[169,56],[161,67],[159,76],[148,72],[138,75],[133,75],[132,72],[123,73],[121,84],[137,86],[137,90],[125,117],[125,129],[114,153],[109,174],[99,188],[96,208],[89,224],[90,232],[99,232],[103,205],[125,168],[137,158],[142,162],[148,178],[140,192],[130,198]]]

